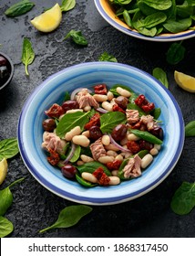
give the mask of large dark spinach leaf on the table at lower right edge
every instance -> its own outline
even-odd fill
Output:
[[[195,183],[183,182],[170,202],[170,208],[179,215],[190,213],[195,207]]]

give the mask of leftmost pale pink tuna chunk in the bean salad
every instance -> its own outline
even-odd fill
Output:
[[[66,142],[60,139],[56,133],[45,132],[43,134],[42,147],[49,152],[50,149],[56,151],[59,154],[65,154]]]

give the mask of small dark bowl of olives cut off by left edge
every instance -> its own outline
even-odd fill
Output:
[[[0,91],[3,90],[14,76],[14,64],[12,60],[0,52]]]

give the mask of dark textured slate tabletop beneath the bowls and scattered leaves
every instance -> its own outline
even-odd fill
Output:
[[[15,64],[14,79],[0,93],[0,140],[16,136],[18,117],[26,98],[43,80],[73,64],[97,60],[103,51],[114,55],[118,62],[149,73],[155,67],[164,69],[169,78],[169,91],[179,102],[185,123],[195,120],[194,94],[182,91],[173,78],[175,69],[195,76],[194,38],[183,41],[187,48],[185,59],[170,66],[166,52],[171,43],[153,43],[122,34],[102,19],[93,0],[77,0],[77,6],[63,14],[60,26],[50,34],[39,33],[29,21],[56,1],[34,0],[36,6],[29,13],[7,18],[5,9],[16,2],[2,0],[0,3],[0,49]],[[79,48],[70,40],[63,41],[72,28],[81,30],[87,37],[87,48]],[[36,59],[29,66],[29,78],[20,60],[24,37],[31,40],[36,51]],[[77,226],[43,234],[38,234],[38,230],[53,223],[62,208],[74,203],[39,185],[20,155],[9,160],[8,165],[8,174],[0,189],[16,178],[26,177],[23,183],[12,188],[14,203],[5,215],[15,225],[10,237],[195,237],[195,210],[187,216],[177,216],[169,207],[182,181],[195,180],[194,138],[186,139],[180,160],[171,174],[147,195],[115,206],[93,207],[92,213]]]

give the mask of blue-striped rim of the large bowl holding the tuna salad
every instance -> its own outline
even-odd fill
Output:
[[[26,155],[26,150],[24,148],[24,141],[23,141],[23,124],[24,124],[24,118],[26,115],[26,112],[28,111],[28,103],[30,101],[32,101],[32,99],[34,99],[34,97],[36,97],[36,95],[38,94],[38,92],[48,86],[48,83],[51,82],[51,80],[56,79],[58,76],[60,76],[61,74],[67,73],[69,70],[72,69],[82,69],[83,67],[85,68],[90,68],[90,67],[100,67],[100,66],[109,66],[109,67],[121,67],[122,69],[132,69],[132,70],[136,70],[141,72],[144,76],[149,77],[150,80],[155,80],[156,83],[158,83],[158,85],[161,87],[162,90],[166,91],[170,100],[173,102],[173,105],[176,109],[176,112],[178,113],[178,118],[180,120],[180,144],[177,148],[177,151],[175,152],[175,155],[172,159],[172,161],[169,163],[166,171],[163,172],[163,174],[161,176],[159,176],[155,181],[153,181],[151,184],[149,184],[148,187],[144,187],[141,188],[139,190],[137,190],[134,193],[130,193],[128,195],[126,195],[126,197],[105,197],[105,198],[94,198],[94,197],[83,197],[83,196],[77,196],[75,194],[69,194],[66,191],[62,191],[59,187],[56,187],[54,184],[51,184],[49,182],[47,182],[46,178],[43,176],[40,176],[40,174],[38,173],[38,171],[36,170],[36,168],[34,167],[34,164],[31,163],[31,160],[29,159],[28,155]],[[29,172],[32,174],[32,176],[34,176],[36,178],[36,180],[43,186],[46,187],[48,190],[50,190],[51,192],[53,192],[54,194],[56,194],[59,197],[64,197],[68,200],[77,202],[77,203],[82,203],[82,204],[88,204],[88,205],[113,205],[113,204],[118,204],[118,203],[122,203],[122,202],[126,202],[128,200],[134,199],[136,197],[140,197],[146,193],[148,193],[150,190],[152,190],[153,188],[159,186],[159,184],[167,177],[169,176],[169,173],[172,171],[172,169],[174,168],[174,166],[177,164],[179,158],[180,158],[180,154],[182,152],[182,148],[184,145],[184,122],[183,122],[183,117],[182,117],[182,113],[180,112],[180,106],[178,104],[178,102],[175,100],[175,98],[173,97],[173,95],[170,93],[170,91],[164,86],[162,85],[159,80],[156,80],[153,76],[151,76],[149,73],[129,66],[127,64],[121,64],[121,63],[114,63],[114,62],[86,62],[86,63],[82,63],[82,64],[77,64],[77,65],[73,65],[71,67],[67,67],[66,69],[62,69],[61,71],[56,72],[55,74],[49,76],[46,80],[44,80],[39,86],[36,87],[36,90],[33,91],[29,97],[27,98],[22,112],[20,114],[19,120],[18,120],[18,127],[17,127],[17,134],[18,134],[18,146],[19,146],[19,150],[20,150],[20,154],[23,158],[23,161],[27,167],[27,169],[29,170]]]

